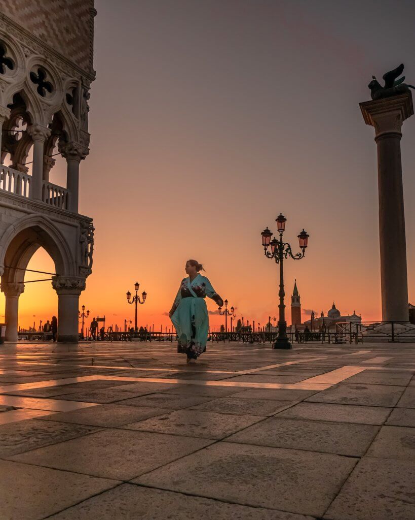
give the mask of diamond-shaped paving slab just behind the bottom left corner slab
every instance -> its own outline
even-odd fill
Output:
[[[104,430],[29,451],[11,460],[98,477],[130,480],[211,443],[206,439],[178,435]]]

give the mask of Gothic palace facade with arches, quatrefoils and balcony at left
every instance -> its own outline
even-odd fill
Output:
[[[25,269],[39,247],[55,265],[58,341],[78,341],[79,295],[92,272],[93,254],[94,228],[91,218],[78,213],[78,186],[79,166],[89,153],[95,15],[93,0],[0,4],[0,275],[6,341],[17,341]],[[66,160],[66,186],[49,181],[57,153]]]

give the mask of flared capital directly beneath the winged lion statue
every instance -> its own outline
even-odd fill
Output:
[[[402,123],[413,114],[412,94],[359,103],[363,119],[375,128],[375,140],[383,134],[400,134]]]

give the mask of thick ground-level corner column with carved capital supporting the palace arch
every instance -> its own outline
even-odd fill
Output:
[[[85,278],[53,276],[52,287],[58,294],[58,342],[78,343],[79,295]]]

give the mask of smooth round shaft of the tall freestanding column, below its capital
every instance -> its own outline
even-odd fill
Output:
[[[404,191],[398,132],[376,138],[382,320],[408,321]]]

